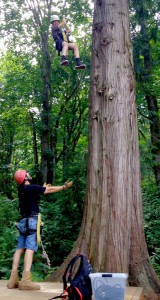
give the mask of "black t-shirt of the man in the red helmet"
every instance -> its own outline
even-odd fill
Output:
[[[40,196],[44,194],[45,189],[38,184],[23,185],[18,188],[19,211],[22,217],[39,213]]]

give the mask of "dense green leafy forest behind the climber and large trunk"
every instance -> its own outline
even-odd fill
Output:
[[[35,255],[33,275],[44,279],[71,251],[83,215],[88,146],[88,92],[93,5],[87,1],[0,1],[0,278],[9,277],[18,219],[13,173],[27,169],[36,183],[73,188],[43,197],[42,241],[51,269]],[[160,2],[130,1],[136,76],[142,198],[151,262],[160,275]],[[68,18],[85,71],[62,68],[50,31],[54,13]],[[21,266],[22,267],[22,266]]]

